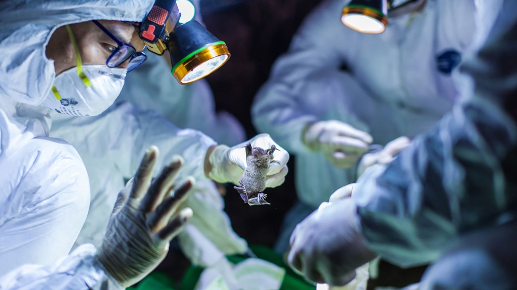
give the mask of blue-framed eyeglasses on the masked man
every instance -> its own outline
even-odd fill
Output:
[[[136,67],[140,66],[142,62],[147,59],[147,56],[144,53],[136,52],[133,46],[126,44],[118,38],[116,38],[110,30],[106,29],[106,27],[102,26],[97,20],[92,20],[95,25],[97,25],[105,34],[107,34],[113,41],[115,41],[118,45],[116,50],[108,57],[106,60],[106,66],[109,68],[116,68],[122,65],[124,62],[129,60],[127,65],[127,71],[130,72]]]

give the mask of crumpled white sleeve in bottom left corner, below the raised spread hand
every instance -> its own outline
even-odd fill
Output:
[[[104,272],[96,253],[85,244],[52,265],[23,265],[0,277],[0,290],[124,289]]]

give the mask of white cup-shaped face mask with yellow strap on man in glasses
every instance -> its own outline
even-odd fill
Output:
[[[75,49],[77,67],[55,78],[52,90],[42,105],[65,115],[97,116],[113,104],[124,86],[127,71],[103,65],[83,67],[79,49],[68,25],[67,30]]]

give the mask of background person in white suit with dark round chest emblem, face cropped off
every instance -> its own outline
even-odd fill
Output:
[[[474,34],[474,0],[418,0],[413,12],[388,13],[378,35],[343,25],[349,2],[327,0],[309,14],[253,103],[257,131],[296,156],[299,201],[280,253],[298,222],[368,166],[389,162],[408,144],[401,136],[429,128],[458,95],[453,74]],[[372,143],[389,146],[366,154]]]

